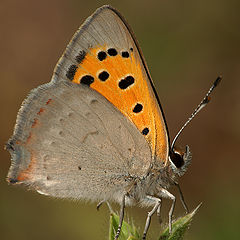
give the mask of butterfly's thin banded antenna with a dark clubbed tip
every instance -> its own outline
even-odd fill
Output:
[[[192,121],[192,119],[210,102],[210,94],[212,93],[213,89],[218,86],[218,84],[221,82],[222,76],[218,76],[217,79],[214,81],[213,85],[208,90],[207,94],[203,98],[203,100],[199,103],[199,105],[195,108],[191,116],[188,118],[188,120],[185,122],[185,124],[182,126],[182,128],[179,130],[175,138],[173,139],[171,149],[173,150],[174,145],[179,137],[179,135],[182,133],[183,129]]]

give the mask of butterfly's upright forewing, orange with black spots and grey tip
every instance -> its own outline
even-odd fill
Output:
[[[123,17],[99,8],[76,32],[55,69],[57,79],[88,85],[132,121],[152,157],[168,159],[163,113],[140,48]]]

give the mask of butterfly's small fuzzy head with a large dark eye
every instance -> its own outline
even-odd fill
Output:
[[[186,146],[185,151],[181,148],[174,147],[169,154],[169,162],[175,176],[182,176],[188,169],[191,163],[192,154],[189,146]]]

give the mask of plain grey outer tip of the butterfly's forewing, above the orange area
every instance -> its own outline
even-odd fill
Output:
[[[77,61],[79,53],[84,52],[91,55],[92,48],[104,46],[114,48],[119,53],[132,49],[135,61],[139,61],[142,67],[143,75],[151,81],[143,56],[139,53],[140,48],[137,46],[133,32],[120,13],[108,5],[98,8],[76,31],[56,65],[53,77],[69,81],[66,77],[69,68],[72,65],[82,67]],[[151,89],[150,82],[148,84]]]

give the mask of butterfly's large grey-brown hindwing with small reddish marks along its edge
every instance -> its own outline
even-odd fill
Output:
[[[65,81],[30,93],[7,148],[10,182],[63,198],[117,198],[151,161],[135,125],[96,91]]]

